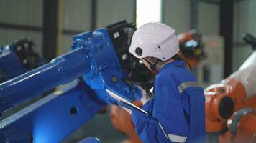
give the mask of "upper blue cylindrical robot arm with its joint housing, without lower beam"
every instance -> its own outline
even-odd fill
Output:
[[[86,83],[105,102],[116,103],[106,93],[106,87],[128,100],[133,99],[131,87],[122,81],[119,59],[106,29],[74,36],[72,48],[73,51],[53,59],[50,63],[0,84],[1,110],[82,75]]]

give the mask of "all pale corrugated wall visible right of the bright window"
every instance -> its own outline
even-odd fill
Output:
[[[219,1],[219,0],[216,0]],[[177,34],[187,31],[191,27],[191,1],[190,0],[164,0],[163,22],[176,29]],[[242,34],[249,32],[256,36],[256,1],[243,0],[234,2],[234,50],[233,66],[235,71],[252,53],[250,46],[242,40]],[[198,4],[198,30],[202,34],[219,34],[219,5],[199,1]]]

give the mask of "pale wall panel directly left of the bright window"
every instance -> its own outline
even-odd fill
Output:
[[[96,28],[122,20],[134,23],[135,2],[134,0],[98,0]]]

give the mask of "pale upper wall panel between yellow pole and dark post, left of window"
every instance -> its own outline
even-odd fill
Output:
[[[91,29],[91,0],[63,1],[63,29]]]

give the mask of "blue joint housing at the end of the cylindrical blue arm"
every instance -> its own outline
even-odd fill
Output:
[[[106,29],[73,36],[72,48],[79,47],[88,51],[91,61],[91,71],[83,74],[83,79],[102,100],[116,104],[116,101],[106,93],[106,88],[112,89],[130,101],[134,99],[132,87],[123,82],[124,76],[119,59]]]

